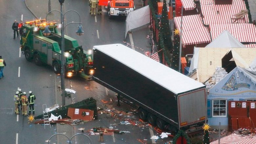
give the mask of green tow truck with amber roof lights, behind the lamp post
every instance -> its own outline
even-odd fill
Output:
[[[43,34],[45,26],[51,33]],[[22,26],[21,51],[27,61],[34,60],[40,66],[47,64],[53,67],[53,71],[59,74],[61,71],[61,35],[57,31],[58,24],[47,23],[45,19],[26,22]],[[92,54],[84,51],[78,45],[77,40],[65,35],[65,76],[72,77],[79,74],[87,80],[91,80],[93,74]]]

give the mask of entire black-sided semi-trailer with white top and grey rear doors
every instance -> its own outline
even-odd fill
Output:
[[[162,130],[202,130],[205,85],[122,44],[93,50],[93,80],[132,101],[142,120]]]

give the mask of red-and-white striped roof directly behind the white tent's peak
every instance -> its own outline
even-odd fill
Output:
[[[209,24],[209,27],[212,40],[227,30],[240,42],[256,42],[256,28],[253,24]]]

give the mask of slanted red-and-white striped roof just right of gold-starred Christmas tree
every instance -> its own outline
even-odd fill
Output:
[[[181,16],[174,17],[176,28],[181,31]],[[199,14],[187,15],[182,18],[182,44],[193,45],[211,42],[210,34],[203,26]]]

